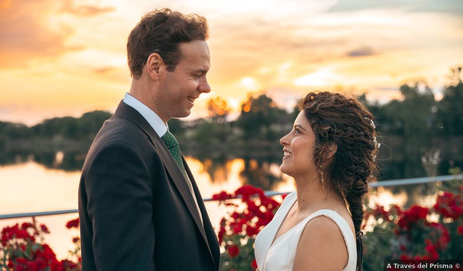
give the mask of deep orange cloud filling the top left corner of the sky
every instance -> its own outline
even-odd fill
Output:
[[[0,68],[25,68],[37,61],[50,63],[84,45],[69,38],[77,25],[61,20],[70,13],[77,17],[97,16],[113,7],[77,6],[72,0],[57,4],[53,0],[0,0]]]

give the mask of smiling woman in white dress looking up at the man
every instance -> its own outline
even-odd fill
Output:
[[[280,169],[297,189],[256,238],[258,270],[362,270],[362,202],[380,146],[373,116],[329,92],[309,93],[300,110],[280,139]]]

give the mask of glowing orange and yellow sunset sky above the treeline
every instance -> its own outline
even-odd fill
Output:
[[[0,120],[114,111],[127,36],[163,7],[209,23],[212,91],[190,118],[216,96],[237,111],[251,92],[286,108],[311,90],[386,102],[417,79],[439,94],[463,65],[462,0],[0,0]]]

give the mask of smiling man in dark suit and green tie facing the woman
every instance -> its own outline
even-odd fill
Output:
[[[130,93],[82,169],[82,270],[218,270],[219,245],[171,117],[208,93],[207,22],[169,9],[143,16],[127,42]]]

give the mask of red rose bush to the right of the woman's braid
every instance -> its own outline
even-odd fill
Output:
[[[452,189],[452,188],[450,188]],[[437,193],[431,208],[397,205],[368,210],[364,270],[377,270],[385,259],[455,260],[463,255],[463,186]]]

